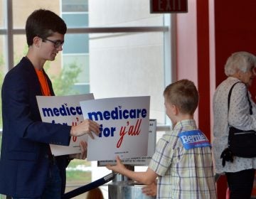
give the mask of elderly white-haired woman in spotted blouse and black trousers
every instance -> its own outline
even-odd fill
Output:
[[[228,147],[229,125],[241,130],[256,131],[256,107],[250,97],[247,87],[252,85],[255,77],[256,58],[247,52],[233,53],[225,64],[226,80],[221,82],[213,96],[213,154],[215,172],[225,174],[230,198],[250,198],[255,177],[256,158],[233,157],[232,161],[222,164],[220,155]],[[233,87],[228,111],[228,93]],[[252,104],[252,114],[250,105]],[[229,125],[228,125],[229,124]]]

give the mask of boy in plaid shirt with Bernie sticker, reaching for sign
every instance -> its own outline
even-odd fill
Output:
[[[107,168],[146,185],[158,177],[156,198],[216,198],[210,143],[193,119],[198,106],[193,82],[166,87],[164,105],[172,130],[159,139],[147,170],[129,171],[118,156],[117,165]]]

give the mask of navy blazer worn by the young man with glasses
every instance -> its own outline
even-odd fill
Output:
[[[50,79],[46,78],[54,95]],[[27,58],[22,58],[6,74],[1,90],[0,193],[15,198],[41,197],[50,163],[49,144],[70,144],[70,126],[41,122],[36,95],[42,95],[36,71]],[[68,156],[57,157],[63,193],[68,162]]]

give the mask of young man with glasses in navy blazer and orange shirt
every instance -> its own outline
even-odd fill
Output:
[[[13,198],[61,198],[65,168],[72,158],[85,159],[87,144],[80,143],[81,154],[56,157],[49,144],[68,146],[70,136],[100,133],[99,124],[89,119],[75,127],[41,121],[36,95],[54,95],[43,65],[63,50],[66,31],[52,11],[34,11],[26,21],[28,53],[4,78],[0,193]]]

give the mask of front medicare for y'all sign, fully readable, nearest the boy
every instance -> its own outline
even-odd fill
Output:
[[[84,119],[100,124],[100,136],[88,137],[87,160],[147,155],[149,96],[114,97],[80,102]]]

